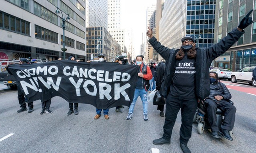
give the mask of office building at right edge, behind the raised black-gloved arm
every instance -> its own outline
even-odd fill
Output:
[[[232,71],[256,66],[256,0],[216,0],[214,42],[217,43],[232,29],[237,28],[251,9],[254,10],[250,15],[254,22],[225,54],[215,59],[213,66]]]

